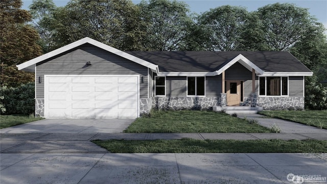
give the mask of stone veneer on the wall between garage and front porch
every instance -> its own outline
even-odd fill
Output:
[[[220,97],[152,97],[152,108],[154,109],[211,110],[213,106],[220,105]]]

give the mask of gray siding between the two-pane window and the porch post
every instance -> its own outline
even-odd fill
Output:
[[[222,93],[222,75],[205,77],[205,96],[220,97]]]

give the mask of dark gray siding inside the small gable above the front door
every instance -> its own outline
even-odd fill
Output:
[[[241,63],[236,62],[225,71],[225,80],[249,80],[252,71],[247,70]]]

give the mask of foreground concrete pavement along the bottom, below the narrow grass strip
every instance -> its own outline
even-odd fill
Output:
[[[321,183],[326,166],[307,153],[3,153],[0,183]]]

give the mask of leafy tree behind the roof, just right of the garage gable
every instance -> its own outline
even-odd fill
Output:
[[[143,45],[148,51],[176,51],[185,48],[185,37],[194,22],[189,6],[170,0],[142,1],[139,5],[147,29]]]

